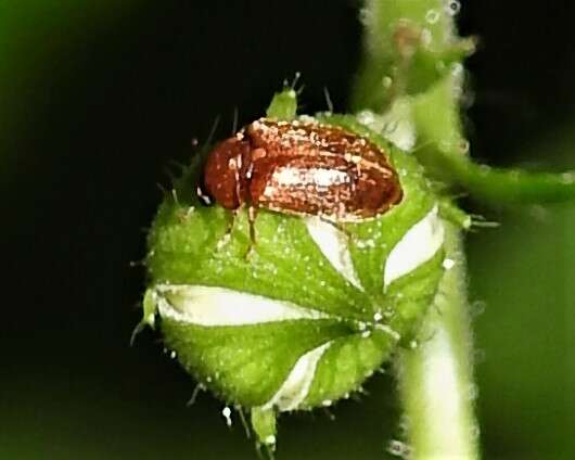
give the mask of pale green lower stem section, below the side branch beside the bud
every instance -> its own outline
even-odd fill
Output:
[[[399,393],[412,459],[476,459],[478,426],[473,416],[473,345],[465,296],[461,231],[446,226],[446,271],[421,343],[401,352]]]

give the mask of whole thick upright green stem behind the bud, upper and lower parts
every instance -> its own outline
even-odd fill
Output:
[[[393,114],[395,103],[407,104],[421,145],[414,155],[447,187],[458,178],[445,162],[469,163],[467,150],[444,150],[462,144],[460,61],[473,48],[456,34],[453,5],[459,2],[366,0],[365,59],[352,94],[355,110]],[[421,345],[400,352],[396,366],[413,459],[478,458],[463,241],[458,227],[445,228],[451,266],[419,335]]]

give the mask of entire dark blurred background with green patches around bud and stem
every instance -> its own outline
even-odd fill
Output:
[[[575,167],[575,4],[549,3],[463,2],[481,161]],[[156,335],[128,346],[144,286],[130,261],[169,162],[218,116],[227,136],[235,107],[240,124],[261,115],[296,71],[306,112],[323,88],[345,111],[358,7],[0,1],[1,459],[255,457],[220,403],[186,407],[194,382]],[[575,207],[482,212],[502,222],[469,239],[485,458],[575,458]],[[393,380],[368,391],[282,418],[278,459],[383,458]]]

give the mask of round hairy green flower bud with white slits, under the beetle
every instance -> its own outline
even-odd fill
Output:
[[[294,111],[295,92],[285,91],[268,116]],[[143,322],[157,320],[166,346],[204,387],[251,410],[268,445],[277,412],[347,397],[409,344],[443,274],[439,202],[417,161],[352,116],[317,119],[388,155],[404,190],[398,205],[337,226],[259,209],[252,241],[247,210],[202,202],[196,158],[149,235]]]

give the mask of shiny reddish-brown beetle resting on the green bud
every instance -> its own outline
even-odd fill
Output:
[[[360,221],[399,203],[401,187],[384,153],[343,128],[261,118],[217,145],[204,171],[207,192],[228,209],[250,206]]]

